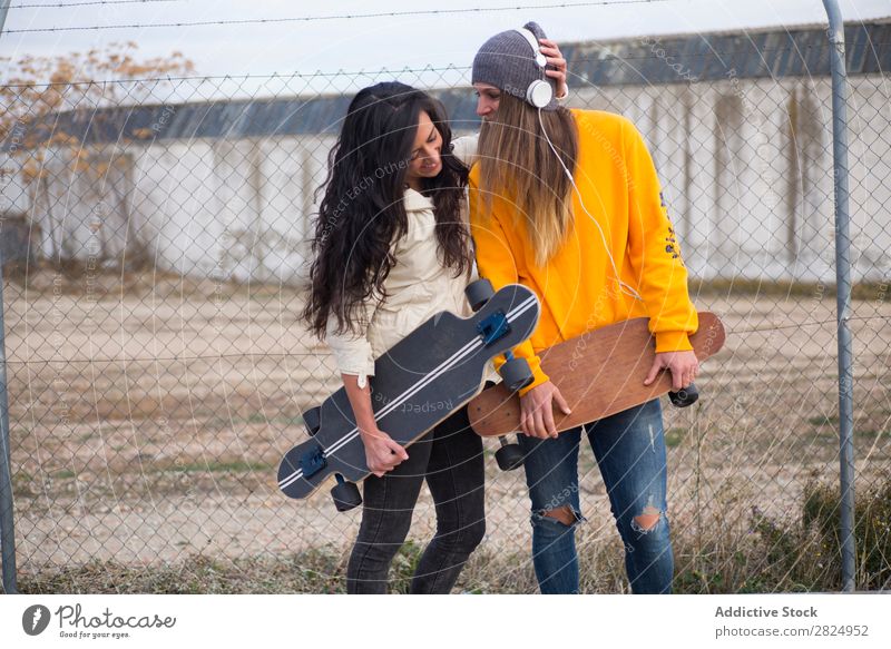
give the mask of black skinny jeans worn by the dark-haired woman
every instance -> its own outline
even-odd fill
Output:
[[[385,431],[384,431],[385,432]],[[482,440],[467,407],[408,449],[409,459],[364,482],[359,538],[346,567],[346,592],[384,593],[390,562],[405,541],[421,483],[437,505],[437,533],[411,581],[412,593],[448,593],[486,533]]]

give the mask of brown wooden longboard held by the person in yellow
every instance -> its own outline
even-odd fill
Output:
[[[554,409],[558,431],[646,403],[669,392],[672,377],[662,372],[644,385],[656,356],[649,318],[638,317],[595,330],[542,351],[541,368],[569,404],[571,414]],[[724,325],[709,312],[699,313],[699,328],[689,337],[699,362],[724,346]],[[692,389],[692,390],[691,390]],[[672,393],[675,405],[689,405],[698,393]],[[470,402],[470,424],[482,436],[502,436],[520,430],[520,399],[501,384],[484,390]]]

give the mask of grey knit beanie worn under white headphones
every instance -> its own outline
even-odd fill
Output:
[[[523,24],[536,39],[547,38],[537,22]],[[510,29],[495,35],[482,43],[473,58],[472,83],[489,83],[502,92],[526,101],[526,89],[536,79],[548,81],[557,96],[557,82],[545,75],[545,68],[535,60],[536,52],[529,41],[517,30]],[[556,99],[551,99],[542,110],[557,110]]]

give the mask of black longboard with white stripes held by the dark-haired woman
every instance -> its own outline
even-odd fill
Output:
[[[511,284],[492,295],[488,282],[481,283],[488,287],[482,299],[472,297],[473,284],[467,291],[479,308],[471,317],[439,313],[375,361],[374,376],[369,377],[374,416],[396,443],[410,445],[479,394],[486,364],[499,354],[510,358],[510,350],[535,331],[540,305],[531,291]],[[518,389],[531,373],[525,361],[509,360],[506,366],[511,363],[515,370],[521,364],[528,374],[518,383],[502,366],[505,382]],[[304,413],[304,422],[312,439],[291,449],[278,466],[278,488],[285,495],[306,498],[332,473],[339,486],[370,474],[344,387]],[[341,507],[335,491],[337,509],[358,504]]]

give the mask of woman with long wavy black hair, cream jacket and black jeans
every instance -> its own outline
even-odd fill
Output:
[[[346,571],[351,593],[386,591],[424,480],[438,524],[412,592],[448,593],[486,531],[482,443],[466,409],[407,451],[378,427],[366,381],[374,360],[419,324],[466,311],[467,167],[450,144],[437,100],[385,82],[353,98],[329,157],[304,317],[334,353],[373,473]]]

